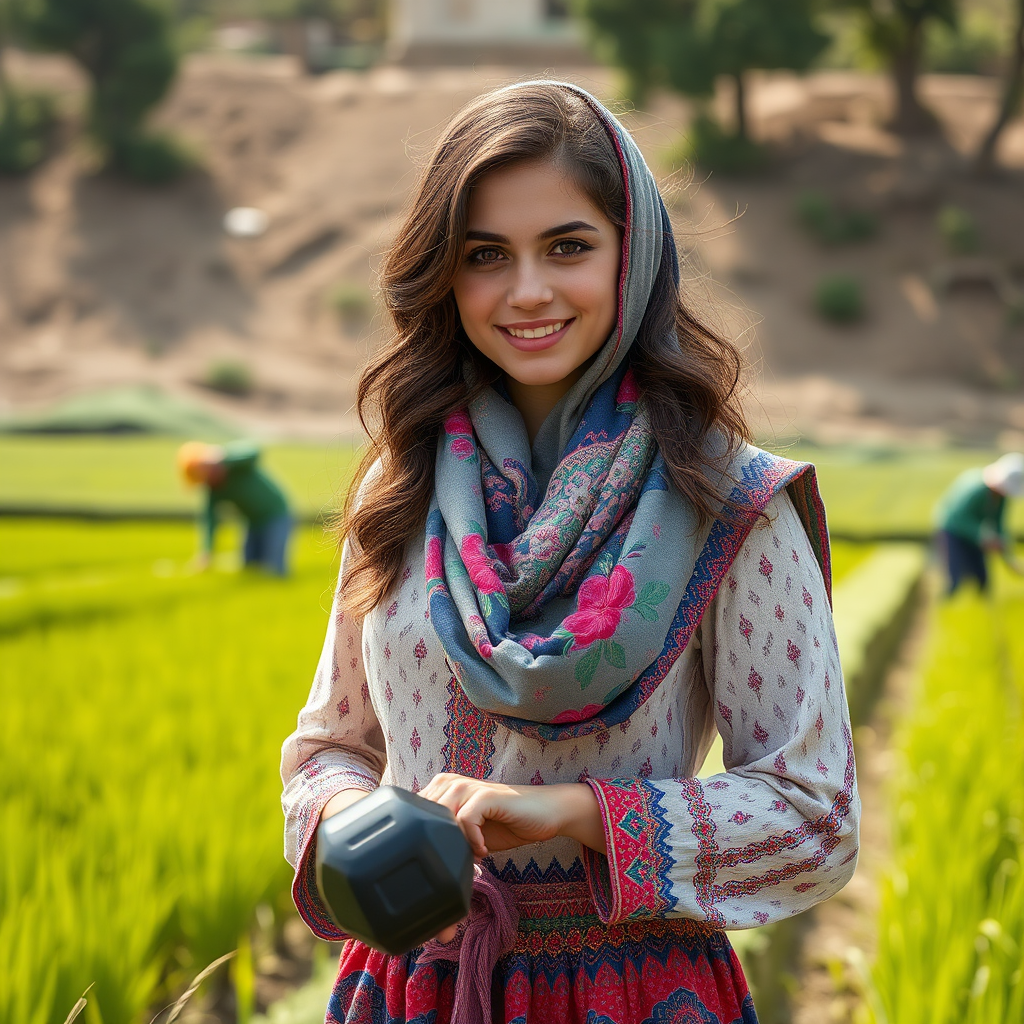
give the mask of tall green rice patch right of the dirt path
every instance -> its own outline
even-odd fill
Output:
[[[1024,1020],[1024,585],[933,612],[898,736],[894,860],[867,1018]]]

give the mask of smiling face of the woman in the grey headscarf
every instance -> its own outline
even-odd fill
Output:
[[[455,300],[527,427],[611,333],[621,259],[618,227],[549,161],[494,171],[473,189]]]

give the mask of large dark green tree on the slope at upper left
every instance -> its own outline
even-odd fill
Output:
[[[181,169],[173,144],[144,131],[178,65],[160,0],[33,0],[26,28],[36,45],[70,54],[88,75],[89,131],[115,168],[150,180]]]

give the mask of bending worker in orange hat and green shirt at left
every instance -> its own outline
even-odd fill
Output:
[[[204,484],[206,503],[200,519],[202,567],[210,562],[217,530],[217,505],[230,502],[246,520],[243,557],[246,565],[262,565],[288,574],[288,540],[292,517],[281,487],[259,465],[259,450],[248,441],[202,444],[189,441],[178,451],[178,468],[191,484]]]

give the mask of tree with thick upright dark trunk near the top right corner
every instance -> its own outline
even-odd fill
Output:
[[[896,87],[893,130],[901,135],[934,132],[935,117],[918,96],[922,48],[930,22],[956,28],[956,0],[840,0],[840,6],[859,12],[868,44],[889,63]]]

